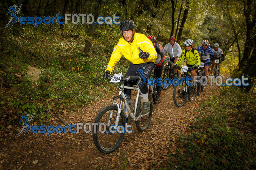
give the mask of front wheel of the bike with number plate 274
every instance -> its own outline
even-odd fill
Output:
[[[176,107],[182,107],[187,99],[188,93],[186,91],[183,92],[181,88],[182,86],[180,85],[173,87],[173,102]]]

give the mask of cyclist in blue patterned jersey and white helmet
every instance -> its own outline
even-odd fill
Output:
[[[209,65],[212,64],[212,57],[214,57],[212,48],[208,47],[207,44],[209,44],[208,40],[203,40],[201,42],[202,46],[197,47],[196,50],[198,51],[198,54],[200,55],[201,58],[201,63],[204,63],[204,71],[205,75],[209,75]]]

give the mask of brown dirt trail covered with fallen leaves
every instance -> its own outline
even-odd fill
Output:
[[[0,131],[0,169],[148,169],[168,165],[167,152],[172,148],[169,135],[185,131],[188,123],[199,113],[196,109],[208,99],[217,86],[204,92],[183,107],[177,108],[172,99],[173,88],[162,90],[161,100],[154,104],[153,117],[147,130],[139,132],[132,122],[132,134],[125,134],[121,146],[111,154],[99,152],[91,134],[33,134],[17,137],[17,131]],[[62,119],[67,122],[94,122],[102,106],[111,104],[112,97],[92,103],[79,112]],[[102,105],[103,102],[104,104]],[[61,124],[52,117],[53,125]],[[20,126],[17,127],[21,129]]]

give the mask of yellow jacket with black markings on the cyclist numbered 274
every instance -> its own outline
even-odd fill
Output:
[[[180,59],[175,64],[178,65],[183,61],[185,57],[185,53],[186,53],[187,64],[189,65],[197,64],[198,66],[200,66],[200,63],[201,63],[200,56],[198,54],[198,51],[193,47],[189,51],[187,51],[187,49],[184,49],[180,55]]]

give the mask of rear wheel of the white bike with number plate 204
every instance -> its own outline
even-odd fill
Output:
[[[142,110],[142,97],[139,97],[138,100],[138,105],[137,105],[137,109],[136,109],[136,117],[138,117],[140,115],[140,112]],[[149,113],[148,115],[145,115],[143,117],[140,117],[140,119],[138,121],[135,121],[136,127],[139,131],[144,131],[148,128],[149,123],[151,121],[152,118],[152,114],[153,114],[153,101],[150,95],[148,95],[148,100],[149,100]]]

